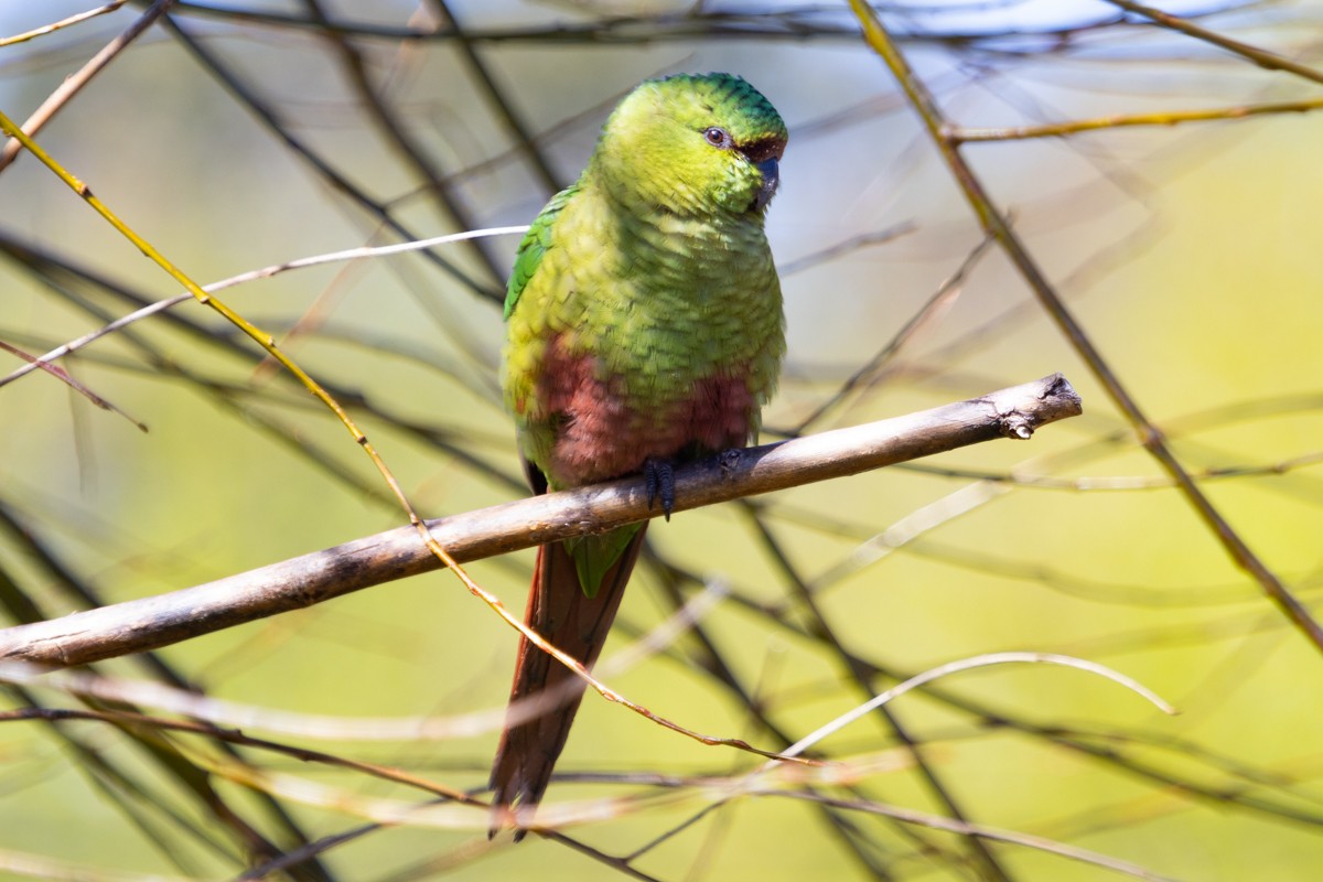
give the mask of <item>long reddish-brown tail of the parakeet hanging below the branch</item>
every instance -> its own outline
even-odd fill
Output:
[[[560,542],[541,546],[524,620],[552,645],[591,668],[606,643],[646,532],[639,529],[607,570],[593,598],[579,587],[574,561],[565,547]],[[541,801],[583,698],[583,681],[565,665],[527,637],[520,639],[505,730],[492,763],[490,836],[501,828],[507,809],[516,804],[531,809]],[[515,841],[524,838],[524,833],[523,829],[516,830]]]

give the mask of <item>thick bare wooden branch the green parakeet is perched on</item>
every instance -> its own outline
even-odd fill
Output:
[[[857,475],[994,438],[1027,439],[1081,413],[1061,374],[908,417],[751,447],[677,468],[681,512]],[[549,493],[429,521],[456,562],[647,520],[643,479]],[[411,526],[345,542],[181,591],[0,631],[0,659],[78,665],[155,649],[441,566]]]

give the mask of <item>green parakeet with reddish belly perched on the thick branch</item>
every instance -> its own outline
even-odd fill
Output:
[[[786,138],[740,77],[651,79],[537,216],[509,279],[503,373],[534,492],[644,472],[669,514],[673,463],[757,436],[786,350],[763,233]],[[646,526],[538,549],[528,624],[591,668]],[[578,677],[520,640],[492,834],[520,807],[523,837],[582,697]]]

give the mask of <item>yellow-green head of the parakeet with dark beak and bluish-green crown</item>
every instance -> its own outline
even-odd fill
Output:
[[[646,210],[761,217],[786,138],[777,108],[740,77],[679,74],[626,95],[591,165],[613,193]]]

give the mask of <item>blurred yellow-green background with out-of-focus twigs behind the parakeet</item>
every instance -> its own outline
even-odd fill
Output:
[[[128,3],[0,45],[0,110],[22,122],[160,5]],[[91,8],[0,4],[0,37]],[[996,130],[962,153],[1106,368],[1229,529],[1318,607],[1320,7],[1164,9],[1307,70],[1266,69],[1102,1],[878,12],[950,120]],[[750,79],[791,132],[769,217],[790,354],[763,440],[1052,372],[1080,390],[1085,415],[1028,443],[656,524],[603,678],[689,729],[766,750],[909,676],[1000,651],[1109,665],[1181,713],[1163,715],[1080,670],[988,668],[938,680],[822,742],[818,755],[840,763],[830,780],[786,774],[749,796],[738,788],[757,756],[589,696],[548,805],[606,811],[560,838],[511,846],[488,844],[480,809],[405,811],[435,799],[425,789],[123,718],[20,719],[22,709],[87,703],[5,686],[0,873],[1318,875],[1319,647],[1237,567],[1138,443],[1097,365],[986,243],[845,5],[176,3],[36,140],[205,284],[363,245],[527,223],[577,177],[620,95],[647,77],[705,70]],[[1181,122],[1193,111],[1212,119]],[[1072,120],[1099,122],[1035,131]],[[283,271],[220,296],[345,405],[422,514],[455,514],[527,493],[497,390],[499,303],[516,243],[503,235]],[[34,157],[0,171],[0,342],[37,356],[176,294]],[[24,364],[0,352],[4,624],[163,594],[406,522],[333,417],[196,303],[58,361],[131,419],[46,372],[9,376]],[[532,558],[468,571],[521,610]],[[695,598],[696,624],[622,662]],[[437,573],[95,670],[235,702],[251,710],[242,729],[254,738],[483,796],[490,725],[348,741],[325,718],[499,721],[516,641]],[[290,711],[307,717],[263,727]],[[939,819],[1011,841],[943,830]],[[300,848],[302,863],[271,862]]]

